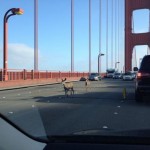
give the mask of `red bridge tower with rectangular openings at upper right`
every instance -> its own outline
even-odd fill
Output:
[[[150,0],[125,0],[125,71],[132,70],[132,52],[136,45],[150,47],[150,32],[132,33],[132,13],[138,9],[150,9]],[[144,18],[139,18],[143,21]]]

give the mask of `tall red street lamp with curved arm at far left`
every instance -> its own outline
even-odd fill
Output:
[[[22,15],[23,10],[21,8],[11,8],[4,15],[4,61],[3,61],[3,69],[4,76],[3,80],[8,80],[7,69],[8,69],[8,19],[13,15]],[[10,14],[9,14],[10,13]]]

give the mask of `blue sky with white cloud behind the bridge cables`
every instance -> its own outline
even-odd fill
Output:
[[[0,0],[0,2],[0,68],[3,68],[4,14],[10,8],[22,8],[24,10],[23,15],[12,16],[8,21],[8,68],[31,70],[34,68],[34,0]],[[71,0],[38,0],[38,5],[38,68],[49,71],[70,71]],[[112,27],[115,11],[117,13],[116,18],[119,19],[116,19],[116,23],[113,23]],[[112,0],[108,0],[108,22],[106,0],[101,0],[101,12],[100,32],[99,0],[91,0],[91,71],[97,72],[100,50],[105,54],[101,57],[101,71],[106,71],[106,48],[108,49],[109,68],[114,67],[115,62],[119,61],[118,68],[122,71],[124,66],[124,0],[114,0],[113,7]],[[134,32],[148,30],[148,10],[135,11],[133,16]],[[139,17],[146,18],[146,21],[141,22]],[[108,31],[107,40],[106,31]],[[101,41],[101,46],[99,46],[99,41]],[[112,42],[114,43],[113,47]],[[137,64],[139,64],[139,59],[147,53],[147,46],[136,46],[135,49]],[[113,63],[111,61],[112,56]],[[135,61],[133,61],[134,63]],[[74,0],[74,71],[89,71],[88,0]]]

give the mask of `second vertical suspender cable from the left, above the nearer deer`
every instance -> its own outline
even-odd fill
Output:
[[[74,0],[71,0],[71,72],[74,72]]]

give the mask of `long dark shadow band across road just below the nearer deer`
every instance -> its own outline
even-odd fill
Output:
[[[57,95],[57,96],[37,96],[34,97],[37,103],[71,103],[86,104],[93,101],[98,102],[119,102],[123,100],[120,92],[85,92],[74,95]]]

